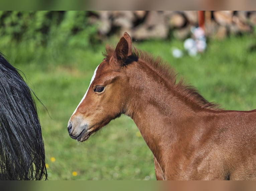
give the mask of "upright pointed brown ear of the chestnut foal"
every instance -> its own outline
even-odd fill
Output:
[[[132,55],[132,40],[128,33],[124,33],[115,49],[115,57],[120,64],[125,64],[128,56]]]

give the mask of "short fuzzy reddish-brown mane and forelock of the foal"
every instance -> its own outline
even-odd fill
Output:
[[[106,52],[103,53],[103,56],[106,60],[110,60],[114,53],[114,48],[107,45]],[[194,108],[198,108],[199,106],[201,109],[207,108],[220,110],[218,104],[207,101],[202,95],[199,94],[195,87],[187,85],[183,78],[177,82],[176,72],[167,62],[164,62],[162,58],[154,58],[151,54],[145,51],[137,50],[134,47],[132,51],[132,57],[139,59],[141,62],[143,62],[143,64],[147,64],[159,76],[165,79],[166,83],[174,90],[173,92],[175,96],[190,104],[193,103],[195,105]]]

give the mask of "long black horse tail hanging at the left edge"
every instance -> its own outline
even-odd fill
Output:
[[[47,179],[41,125],[32,93],[0,53],[0,180]]]

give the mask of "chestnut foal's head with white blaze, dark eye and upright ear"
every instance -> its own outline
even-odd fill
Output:
[[[107,48],[108,49],[108,48]],[[72,138],[85,141],[89,136],[125,112],[127,95],[126,64],[133,62],[131,38],[121,37],[116,49],[96,68],[90,86],[68,123]]]

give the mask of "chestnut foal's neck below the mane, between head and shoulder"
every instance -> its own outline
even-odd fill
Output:
[[[127,70],[129,98],[126,114],[136,123],[148,147],[157,154],[167,150],[176,140],[178,120],[193,116],[195,111],[182,98],[174,95],[174,88],[149,67]]]

